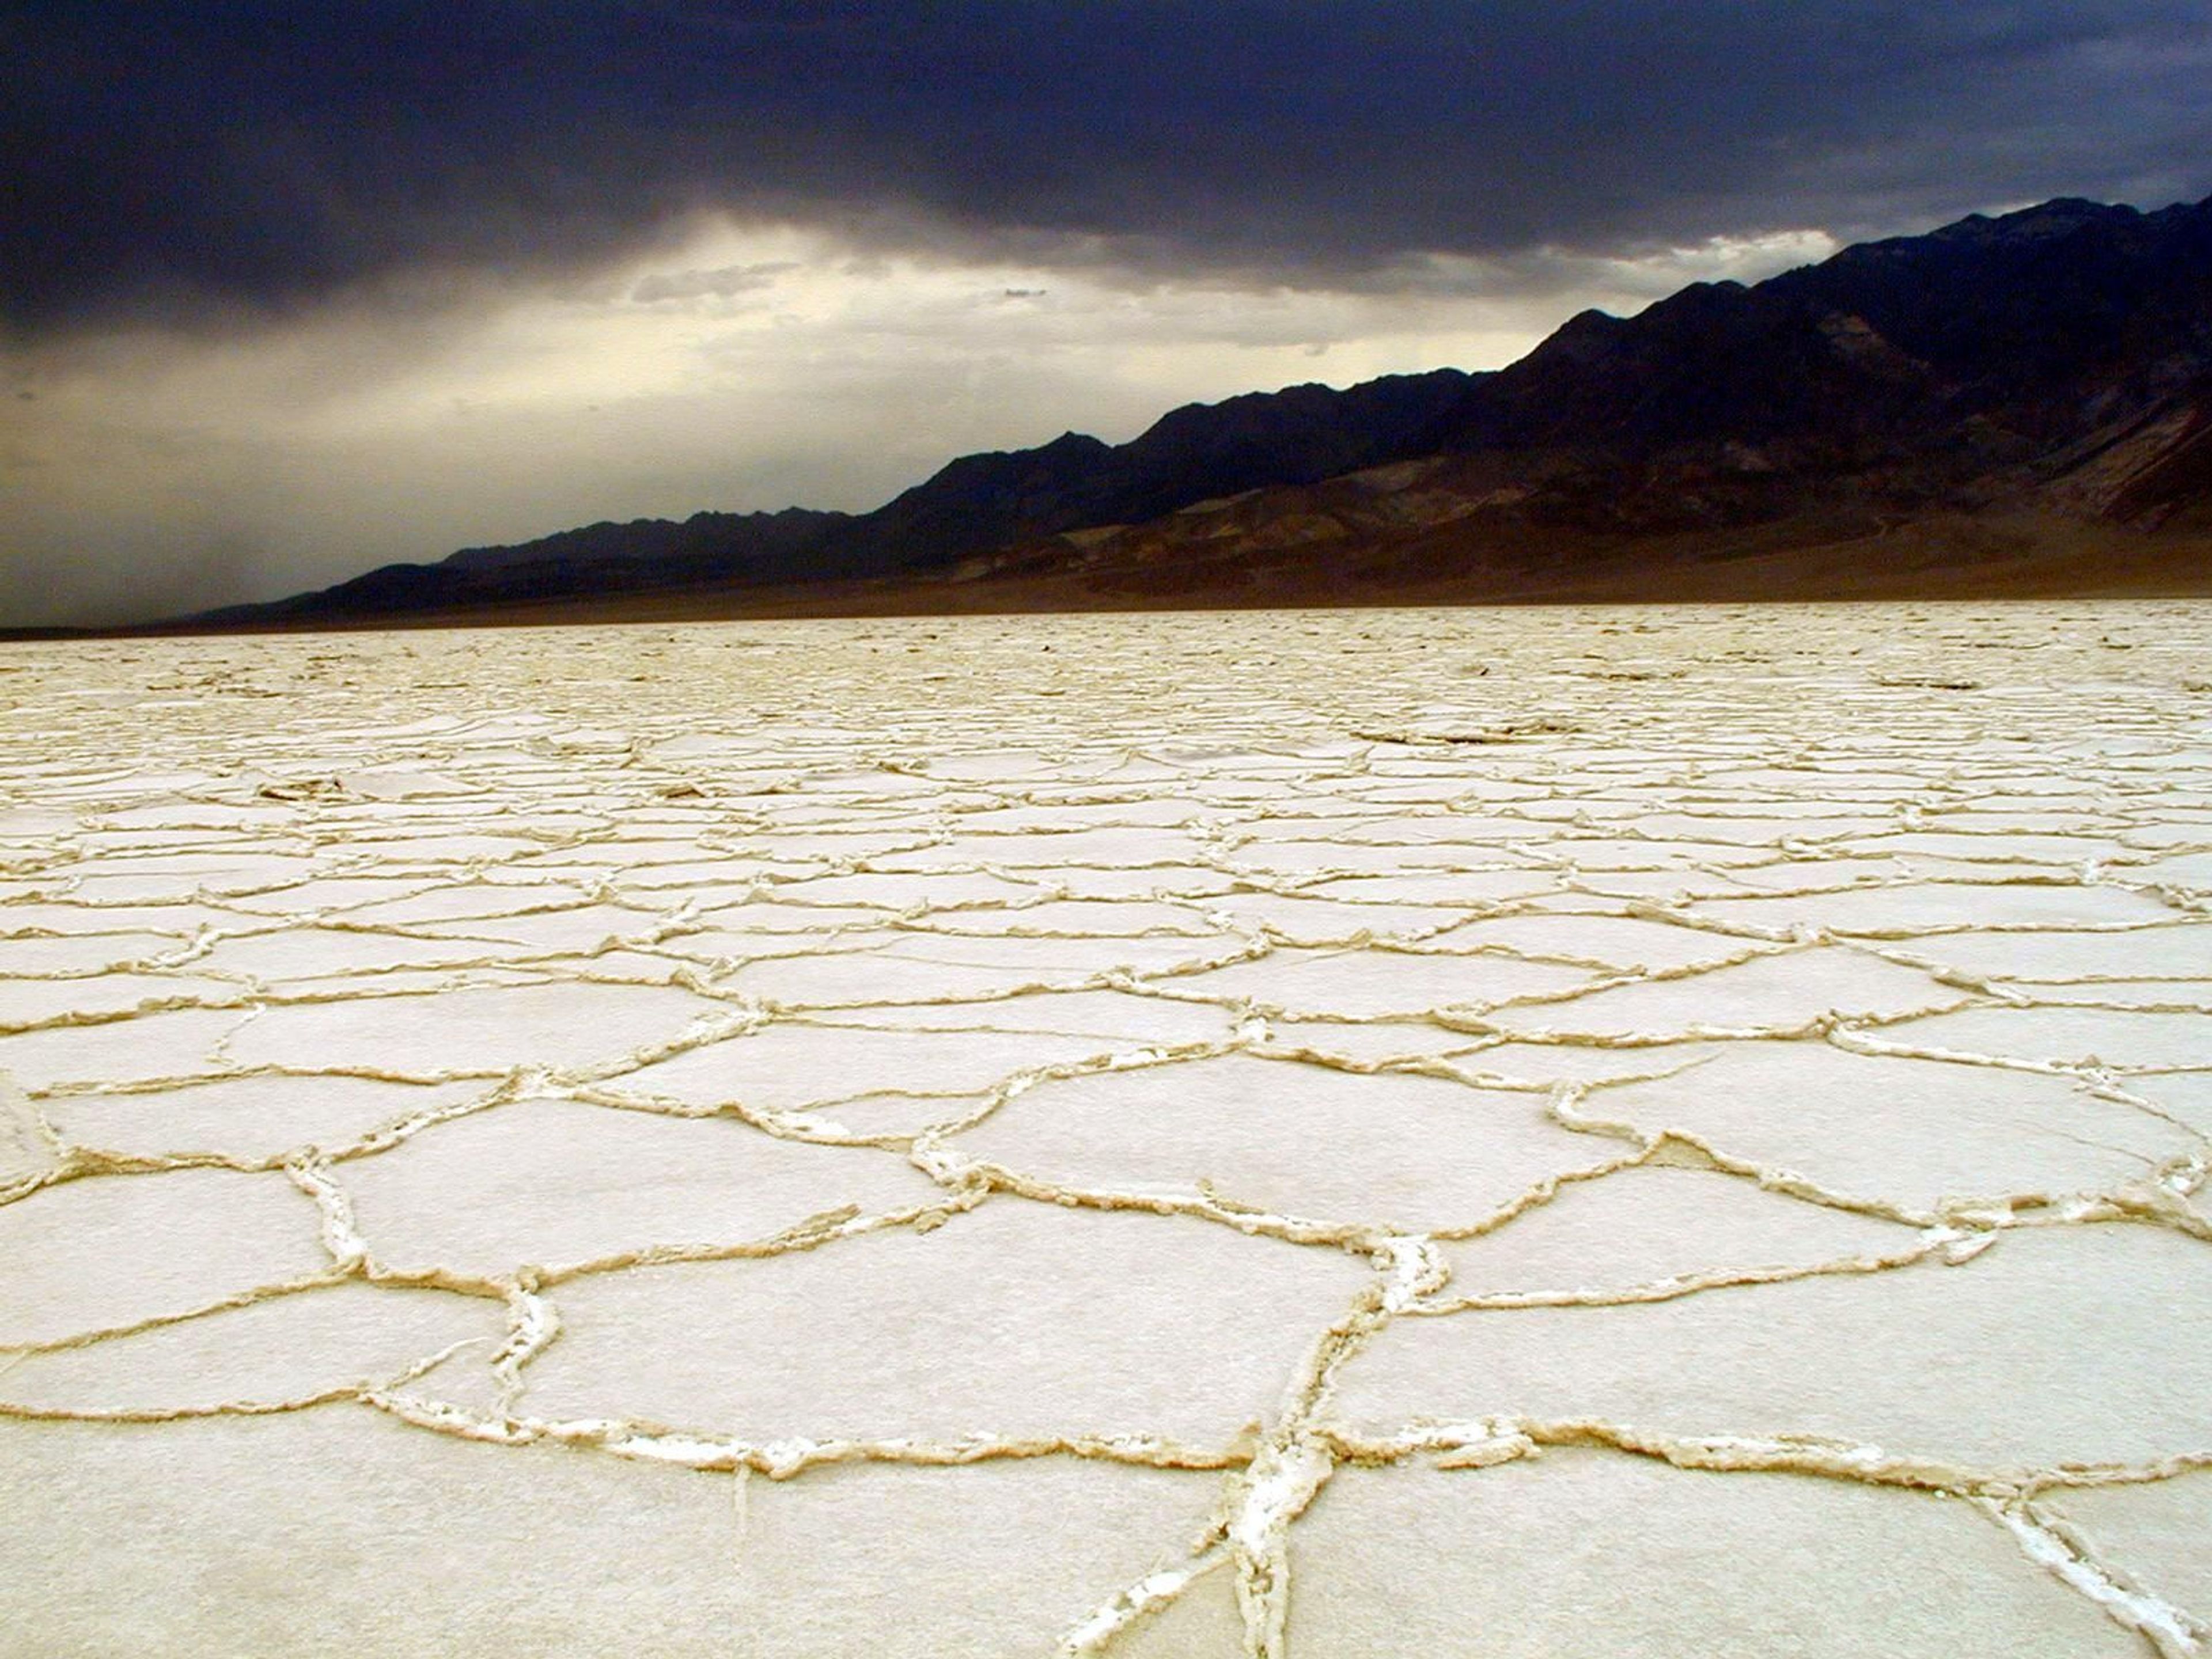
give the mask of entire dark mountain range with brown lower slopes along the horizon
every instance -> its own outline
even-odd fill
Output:
[[[186,622],[2128,591],[2212,591],[2212,199],[1975,215],[872,513],[593,524]]]

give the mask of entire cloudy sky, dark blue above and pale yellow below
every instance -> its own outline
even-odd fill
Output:
[[[0,0],[0,624],[2212,190],[2203,0]]]

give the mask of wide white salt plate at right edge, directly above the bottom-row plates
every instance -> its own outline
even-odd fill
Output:
[[[2212,1398],[2203,1248],[2170,1228],[2020,1228],[1958,1265],[1407,1318],[1336,1409],[1360,1427],[1528,1411],[1805,1431],[1978,1469],[2154,1462],[2201,1444]]]

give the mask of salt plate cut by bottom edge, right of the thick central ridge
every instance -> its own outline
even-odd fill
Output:
[[[1548,1451],[1338,1475],[1292,1571],[1314,1652],[2143,1652],[2059,1582],[2017,1582],[2011,1555],[1929,1493]]]

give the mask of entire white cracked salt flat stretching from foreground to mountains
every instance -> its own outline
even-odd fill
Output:
[[[0,648],[0,1652],[2212,1652],[2212,604]]]

